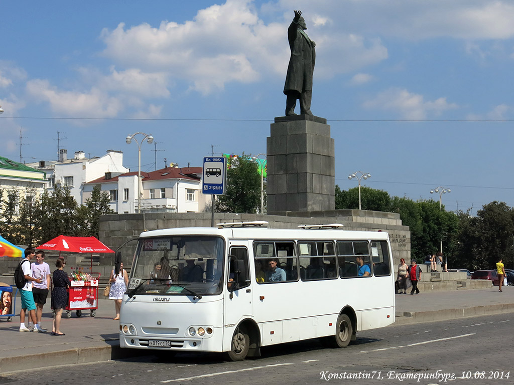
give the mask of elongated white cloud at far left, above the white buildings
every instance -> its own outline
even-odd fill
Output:
[[[47,80],[27,82],[27,92],[39,102],[48,102],[54,113],[83,118],[113,118],[123,109],[117,98],[97,87],[89,91],[62,91]]]

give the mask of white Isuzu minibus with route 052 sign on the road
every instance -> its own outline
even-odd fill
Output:
[[[394,322],[386,232],[265,224],[142,233],[121,306],[120,346],[242,360],[310,338],[344,348],[357,332]]]

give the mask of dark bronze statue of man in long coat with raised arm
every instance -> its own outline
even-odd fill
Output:
[[[300,99],[300,113],[312,115],[310,100],[313,93],[313,72],[316,61],[316,43],[304,32],[307,29],[302,11],[295,11],[295,18],[287,29],[291,58],[287,67],[284,93],[286,116],[296,115],[296,100]]]

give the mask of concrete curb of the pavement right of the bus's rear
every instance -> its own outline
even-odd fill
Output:
[[[514,303],[495,303],[484,306],[465,307],[464,309],[442,309],[428,312],[403,312],[396,315],[393,325],[445,321],[455,318],[476,317],[501,313],[514,313]]]

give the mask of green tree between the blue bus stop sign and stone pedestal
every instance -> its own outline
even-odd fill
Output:
[[[214,202],[217,213],[257,213],[261,207],[261,176],[247,155],[234,158],[227,171],[225,194]]]

